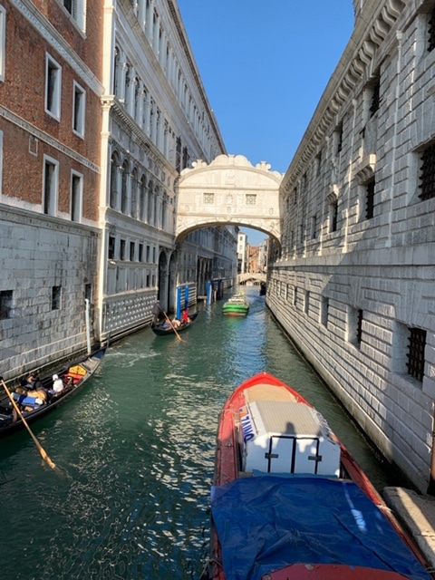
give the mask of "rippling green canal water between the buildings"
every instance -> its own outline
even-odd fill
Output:
[[[182,340],[148,328],[114,343],[84,390],[33,426],[56,469],[25,430],[0,440],[2,580],[198,579],[218,414],[264,370],[323,412],[377,488],[394,483],[258,287],[246,291],[246,318],[198,304]]]

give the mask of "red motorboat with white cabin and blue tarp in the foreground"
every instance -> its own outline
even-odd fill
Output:
[[[211,517],[202,580],[433,580],[324,417],[267,372],[221,412]]]

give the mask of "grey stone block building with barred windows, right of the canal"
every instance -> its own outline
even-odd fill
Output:
[[[266,300],[382,454],[425,491],[434,453],[435,3],[353,5],[352,37],[281,185],[282,246],[271,241]]]

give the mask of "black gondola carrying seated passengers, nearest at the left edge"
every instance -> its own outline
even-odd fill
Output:
[[[71,399],[74,394],[82,390],[85,382],[98,369],[106,353],[107,345],[99,348],[90,355],[84,355],[73,362],[65,364],[61,369],[53,371],[41,379],[42,386],[38,391],[28,391],[24,386],[17,386],[12,391],[14,401],[19,406],[27,423],[43,417],[61,403]],[[53,386],[53,374],[62,379],[63,390],[52,394],[49,391]],[[5,393],[0,398],[0,437],[9,435],[24,428],[24,422],[14,411],[12,402]]]

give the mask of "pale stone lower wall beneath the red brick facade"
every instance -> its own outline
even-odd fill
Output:
[[[5,379],[86,348],[85,286],[92,288],[93,324],[99,248],[95,228],[2,210],[0,267],[7,276],[0,279],[0,291],[13,293],[10,316],[0,323]],[[58,309],[54,286],[61,288]]]

